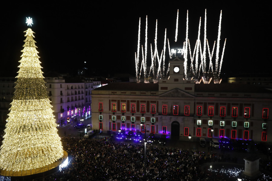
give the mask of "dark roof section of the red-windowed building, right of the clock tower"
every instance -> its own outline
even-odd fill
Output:
[[[195,84],[195,92],[272,93],[261,86],[248,84]]]

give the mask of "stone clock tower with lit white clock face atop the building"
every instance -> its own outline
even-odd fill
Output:
[[[194,92],[194,81],[184,80],[184,60],[175,57],[169,60],[169,64],[169,77],[159,81],[159,91],[178,88],[186,92]]]

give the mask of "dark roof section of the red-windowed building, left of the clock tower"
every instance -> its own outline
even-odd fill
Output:
[[[135,91],[158,91],[159,84],[154,83],[136,83],[136,82],[115,82],[96,90],[135,90]]]

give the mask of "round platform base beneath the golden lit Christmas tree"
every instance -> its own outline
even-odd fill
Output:
[[[22,170],[22,171],[7,171],[0,170],[0,178],[3,180],[31,180],[40,177],[50,175],[57,172],[60,168],[59,166],[67,159],[68,154],[66,151],[63,151],[63,157],[55,161],[52,164],[46,165],[44,167],[32,169],[32,170]],[[10,178],[10,179],[9,179]],[[1,180],[1,179],[0,179]]]

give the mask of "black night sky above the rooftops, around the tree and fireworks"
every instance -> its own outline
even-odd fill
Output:
[[[203,42],[205,8],[207,38],[210,48],[217,40],[219,15],[222,10],[220,57],[227,38],[222,73],[270,72],[271,6],[268,1],[256,4],[209,1],[209,3],[165,1],[115,1],[46,3],[10,3],[1,5],[1,68],[17,72],[26,17],[32,17],[32,30],[43,71],[77,72],[87,62],[93,74],[113,73],[135,75],[134,54],[137,51],[138,22],[141,17],[141,44],[144,45],[145,16],[148,17],[148,52],[154,48],[155,24],[158,20],[158,51],[163,49],[164,30],[170,46],[183,46],[186,12],[189,10],[189,40],[197,40],[199,17],[202,17],[200,40]],[[179,9],[178,43],[174,44],[176,13]],[[203,45],[202,45],[203,46]],[[215,56],[215,55],[214,55]],[[147,65],[150,65],[150,54]]]

